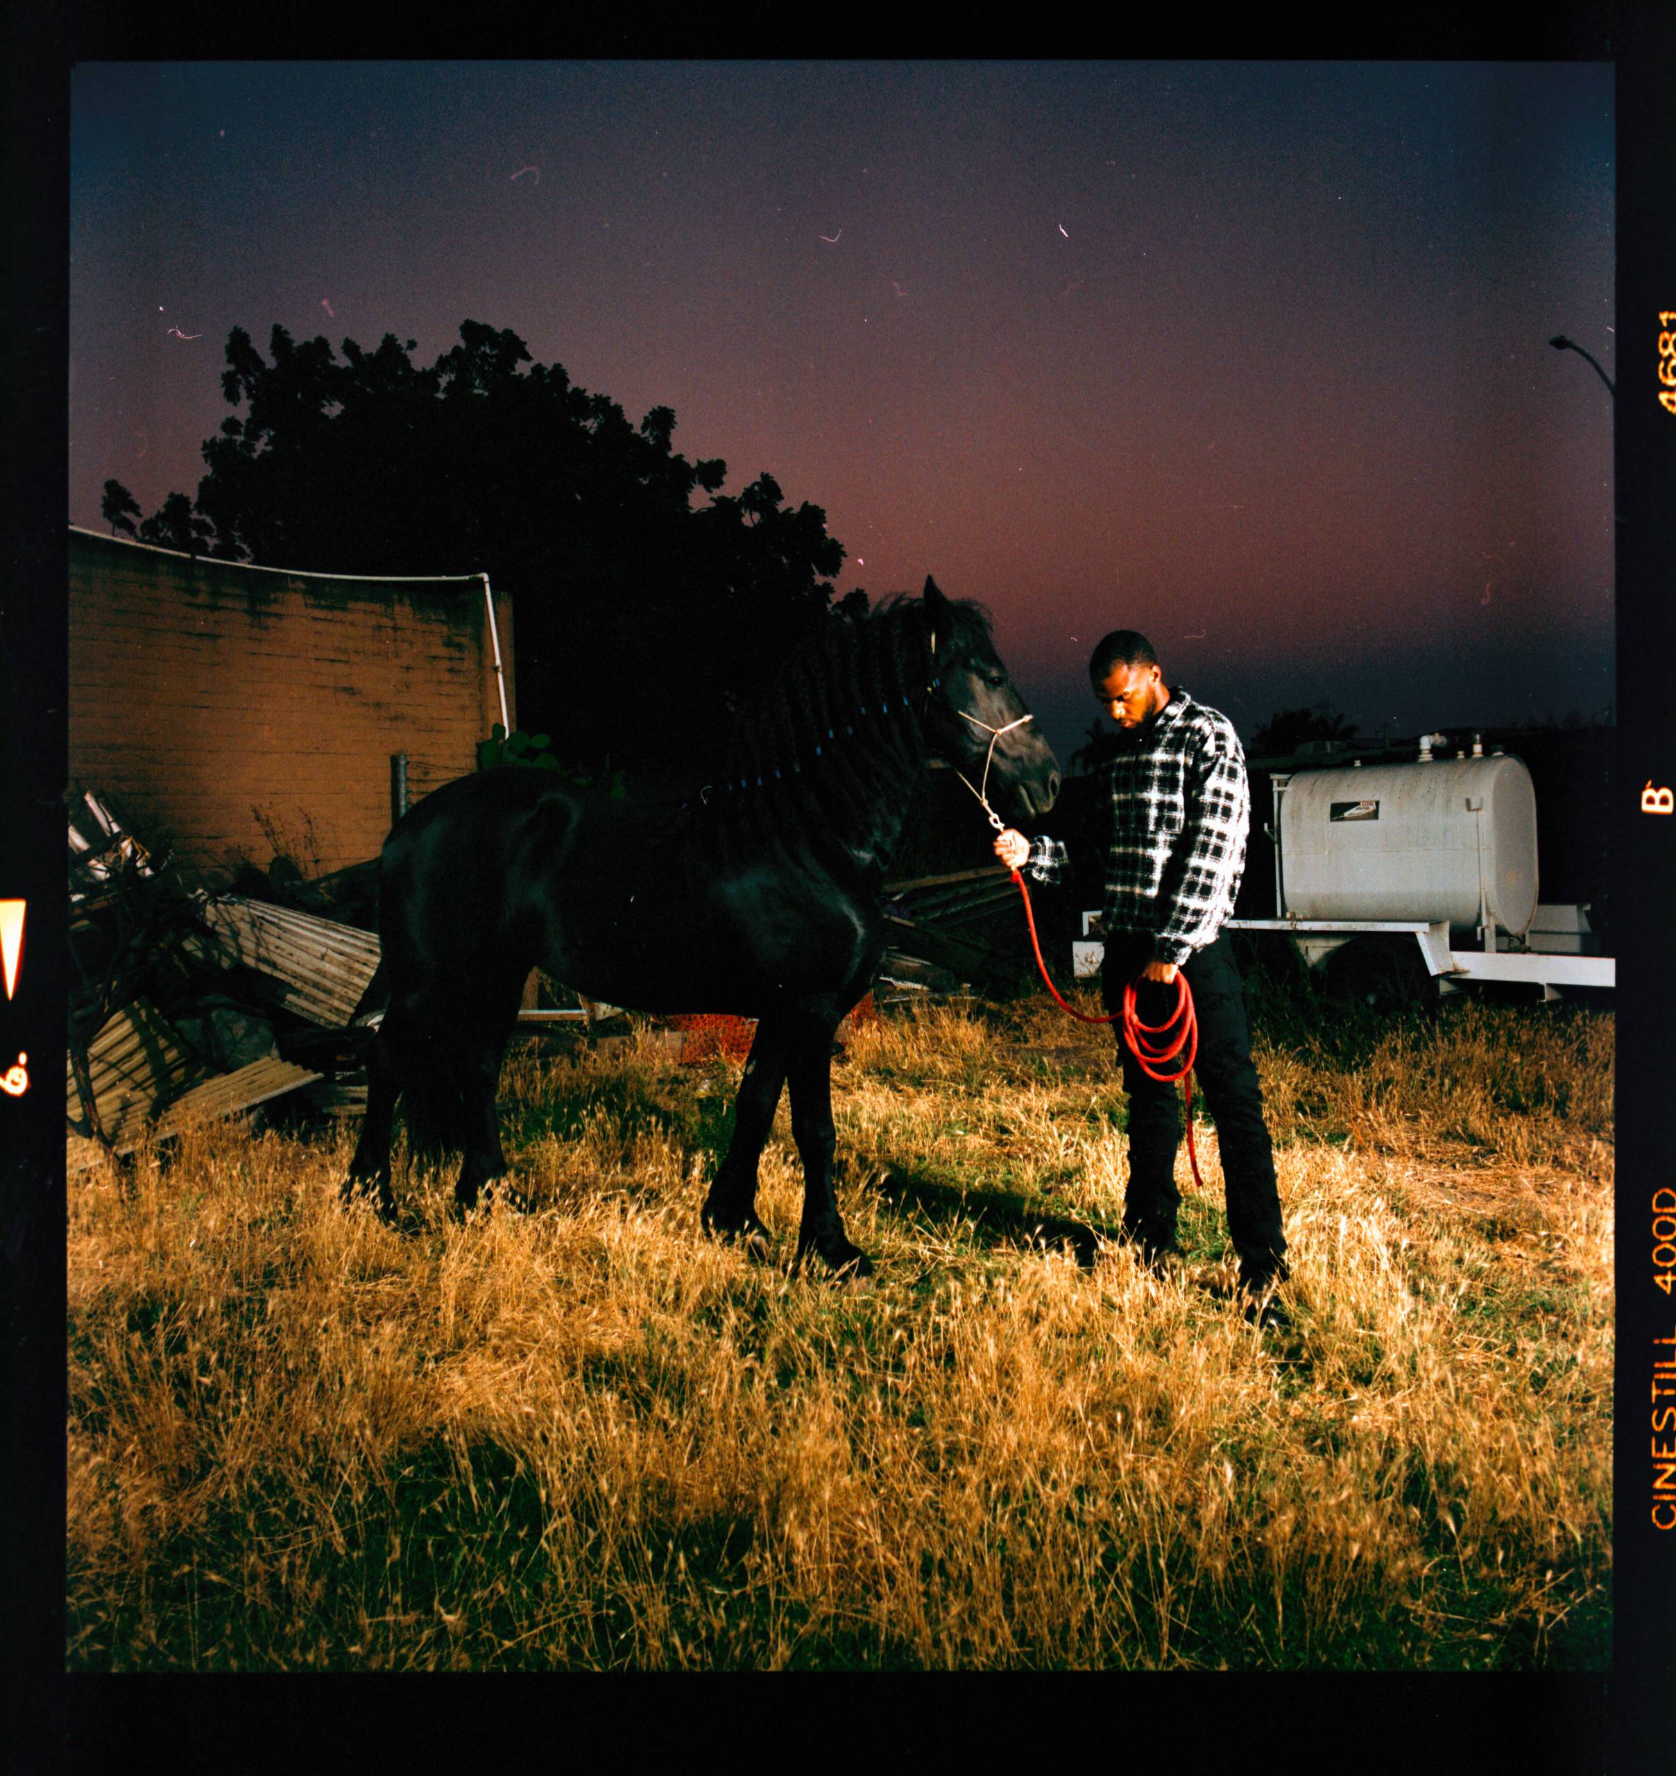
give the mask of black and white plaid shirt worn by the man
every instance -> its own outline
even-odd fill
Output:
[[[1150,723],[1106,765],[1106,931],[1152,934],[1154,955],[1181,966],[1216,940],[1245,874],[1252,792],[1234,725],[1179,686]],[[1056,838],[1030,844],[1037,881],[1063,881]]]

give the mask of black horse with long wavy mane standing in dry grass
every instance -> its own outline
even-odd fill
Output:
[[[795,1265],[813,1250],[870,1270],[833,1192],[833,1032],[879,970],[886,870],[927,751],[1014,819],[1058,794],[987,618],[930,579],[923,599],[833,618],[730,725],[719,767],[682,806],[588,796],[527,765],[426,796],[383,845],[389,1000],[344,1193],[373,1190],[394,1215],[398,1098],[417,1151],[463,1149],[460,1213],[506,1172],[495,1083],[540,966],[613,1005],[756,1018],[703,1224],[765,1241],[756,1162],[790,1082]]]

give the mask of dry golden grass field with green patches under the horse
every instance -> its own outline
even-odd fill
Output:
[[[866,1288],[703,1236],[739,1064],[650,1041],[508,1064],[527,1215],[346,1213],[350,1130],[101,1165],[69,1668],[1601,1669],[1610,1014],[1257,1027],[1289,1336],[1227,1298],[1207,1124],[1186,1270],[1108,1243],[1111,1039],[1040,995],[847,1041]],[[799,1201],[781,1106],[781,1261]]]

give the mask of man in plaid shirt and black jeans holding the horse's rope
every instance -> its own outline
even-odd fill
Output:
[[[1136,980],[1136,1016],[1159,1025],[1174,1009],[1177,971],[1188,977],[1198,1016],[1193,1073],[1221,1146],[1229,1234],[1239,1254],[1246,1318],[1284,1328],[1285,1314],[1269,1300],[1287,1275],[1275,1156],[1234,947],[1221,929],[1245,872],[1252,806],[1245,753],[1227,716],[1197,703],[1181,686],[1165,684],[1152,645],[1133,629],[1117,629],[1099,643],[1088,678],[1122,728],[1117,758],[1106,767],[1103,805],[1110,824],[1101,996],[1106,1011],[1117,1012],[1124,986]],[[1032,844],[1008,829],[994,849],[1010,868],[1028,868],[1044,883],[1060,881],[1069,865],[1065,847],[1048,836]],[[1158,1266],[1179,1250],[1181,1094],[1147,1078],[1122,1039],[1119,1055],[1129,1092],[1124,1233]]]

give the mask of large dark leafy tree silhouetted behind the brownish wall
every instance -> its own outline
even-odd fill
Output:
[[[678,455],[669,407],[634,426],[479,321],[428,368],[414,350],[344,339],[339,361],[275,327],[263,361],[233,329],[240,414],[204,440],[195,503],[170,494],[140,535],[266,567],[486,572],[515,600],[520,726],[573,762],[678,751],[826,620],[826,513],[771,474],[721,494],[726,464]]]

